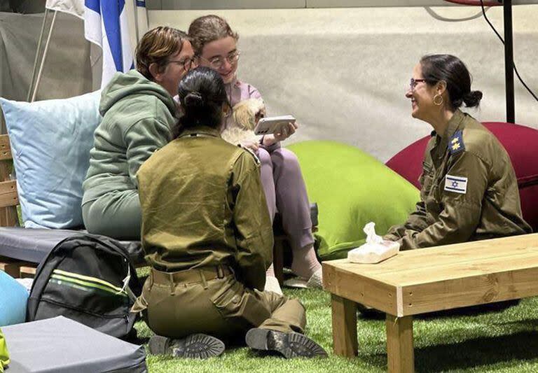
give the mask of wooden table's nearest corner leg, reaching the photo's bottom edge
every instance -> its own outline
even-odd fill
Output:
[[[414,372],[413,316],[396,317],[387,314],[386,325],[389,372]]]

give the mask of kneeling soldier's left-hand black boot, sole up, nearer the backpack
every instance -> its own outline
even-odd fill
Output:
[[[154,335],[149,339],[149,352],[154,355],[171,355],[174,358],[214,358],[221,356],[225,346],[220,339],[205,334],[171,339]]]

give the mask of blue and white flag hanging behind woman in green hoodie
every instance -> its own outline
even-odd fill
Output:
[[[84,36],[103,50],[104,87],[116,71],[134,67],[125,0],[85,0],[84,6]]]

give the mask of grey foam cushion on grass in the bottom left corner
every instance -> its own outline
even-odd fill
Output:
[[[8,373],[147,372],[144,346],[123,342],[58,316],[2,328]]]

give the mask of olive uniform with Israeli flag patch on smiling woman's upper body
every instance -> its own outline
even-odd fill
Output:
[[[420,176],[420,202],[385,239],[424,248],[532,232],[521,216],[516,174],[497,138],[455,111],[445,134],[432,133]]]

